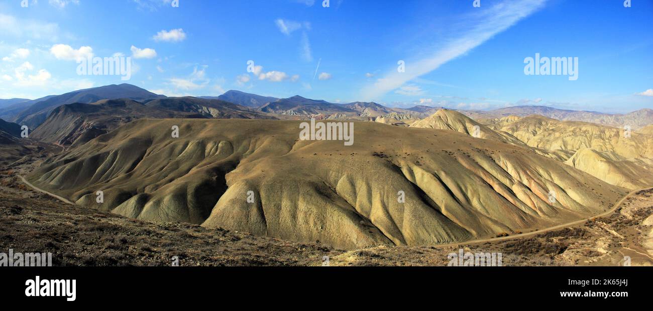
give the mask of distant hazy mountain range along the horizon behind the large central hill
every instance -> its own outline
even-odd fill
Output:
[[[34,130],[44,123],[54,108],[64,104],[91,104],[104,99],[131,99],[142,104],[157,99],[166,98],[136,87],[135,85],[106,85],[91,89],[82,89],[63,95],[50,95],[36,100],[12,98],[0,100],[0,119],[27,125]],[[394,125],[410,125],[418,119],[424,119],[434,114],[441,107],[424,105],[412,108],[389,108],[375,102],[351,102],[335,104],[325,100],[315,100],[302,96],[276,98],[260,96],[242,91],[227,91],[219,96],[200,96],[198,100],[223,100],[239,106],[247,107],[259,113],[266,113],[279,119],[372,119],[381,123]],[[618,128],[630,126],[638,130],[653,123],[653,110],[642,109],[625,114],[599,113],[596,111],[560,110],[547,106],[513,106],[490,111],[458,110],[468,117],[483,124],[492,124],[496,120],[508,116],[526,117],[542,115],[560,121],[583,121]],[[378,120],[377,120],[378,119]]]

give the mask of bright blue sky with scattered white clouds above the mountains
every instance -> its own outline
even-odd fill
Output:
[[[629,2],[0,0],[0,98],[131,83],[167,96],[626,113],[653,108],[653,1]],[[536,54],[577,70],[526,74]],[[129,80],[80,72],[89,56],[129,57]]]

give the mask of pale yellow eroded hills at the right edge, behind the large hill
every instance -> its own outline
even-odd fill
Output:
[[[612,185],[653,186],[653,135],[532,115],[506,117],[492,125],[529,146],[568,156],[567,164]]]

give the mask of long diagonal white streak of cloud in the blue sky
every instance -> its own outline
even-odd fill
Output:
[[[439,33],[449,33],[449,38],[441,38],[438,45],[427,47],[431,50],[421,51],[417,55],[430,55],[428,57],[415,57],[406,59],[405,72],[398,72],[392,68],[382,79],[367,85],[361,90],[363,100],[374,100],[379,96],[401,87],[408,81],[414,80],[424,74],[436,70],[441,65],[470,52],[498,33],[515,25],[526,16],[529,16],[543,7],[546,0],[516,0],[499,1],[488,5],[483,10],[473,10],[467,16],[461,16],[465,27],[452,25],[451,29],[442,29]]]

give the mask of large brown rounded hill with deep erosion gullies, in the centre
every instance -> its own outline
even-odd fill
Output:
[[[596,215],[626,194],[524,147],[451,130],[357,122],[345,146],[300,141],[299,124],[133,121],[29,180],[125,216],[346,248],[534,230]],[[170,136],[173,125],[180,138]]]

